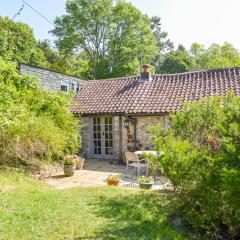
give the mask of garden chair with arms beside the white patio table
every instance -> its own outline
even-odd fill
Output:
[[[139,177],[140,169],[142,167],[146,167],[146,175],[148,175],[148,163],[147,159],[139,159],[139,156],[132,152],[125,152],[125,158],[126,158],[126,171],[125,176],[127,176],[128,167],[136,167],[137,168],[137,178]],[[145,163],[141,163],[141,162]]]

